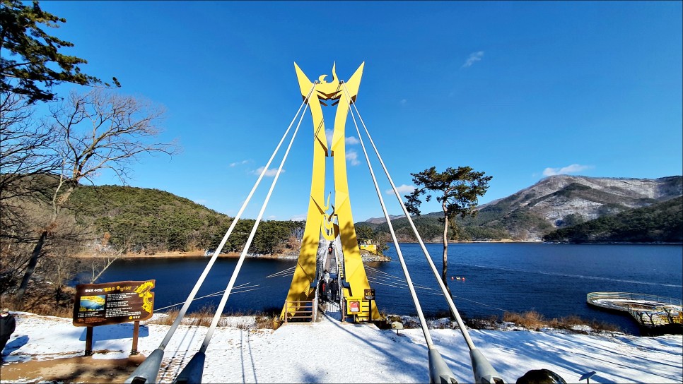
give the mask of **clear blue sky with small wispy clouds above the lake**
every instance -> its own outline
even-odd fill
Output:
[[[479,203],[549,174],[683,174],[680,1],[41,6],[66,18],[51,32],[74,42],[65,52],[88,60],[84,72],[116,76],[120,92],[167,109],[162,138],[177,140],[182,153],[142,157],[127,183],[228,215],[238,212],[300,105],[295,61],[311,80],[331,78],[334,62],[348,79],[365,61],[357,107],[405,193],[410,173],[432,166],[468,165],[493,176]],[[305,218],[312,129],[309,113],[265,219]],[[358,136],[350,117],[346,136]],[[360,145],[346,150],[357,155],[348,160],[354,221],[382,216]],[[271,181],[264,179],[246,217],[257,216]],[[118,184],[106,173],[95,182]],[[384,177],[380,188],[390,189]],[[395,198],[383,196],[390,214],[402,214]],[[439,209],[427,204],[423,212]]]

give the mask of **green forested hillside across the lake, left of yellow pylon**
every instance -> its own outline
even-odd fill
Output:
[[[165,191],[129,186],[81,186],[69,201],[76,220],[124,253],[215,249],[232,218]],[[240,220],[223,252],[242,251],[255,220]],[[284,251],[301,222],[262,222],[252,253]],[[293,237],[293,239],[290,239]]]

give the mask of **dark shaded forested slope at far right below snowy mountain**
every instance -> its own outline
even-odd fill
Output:
[[[672,198],[649,207],[558,229],[543,236],[543,240],[568,243],[681,243],[683,198]]]

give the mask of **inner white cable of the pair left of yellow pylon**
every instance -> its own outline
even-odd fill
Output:
[[[311,88],[310,92],[313,92],[313,89],[315,88],[316,83],[313,83],[313,88]],[[309,96],[310,96],[310,92],[308,93]],[[247,256],[247,251],[249,250],[249,246],[252,244],[252,241],[254,240],[254,236],[256,234],[256,229],[259,227],[259,222],[261,222],[261,218],[263,217],[263,212],[266,210],[266,207],[267,207],[268,202],[270,200],[270,196],[272,195],[273,190],[275,188],[275,184],[277,183],[277,180],[280,177],[280,174],[282,172],[282,167],[284,167],[284,163],[287,160],[287,156],[289,155],[289,150],[292,148],[292,144],[294,143],[294,139],[296,138],[296,133],[299,131],[299,127],[301,126],[301,121],[303,120],[303,116],[306,114],[306,109],[308,109],[308,104],[306,104],[306,108],[303,110],[303,114],[301,114],[299,122],[296,125],[296,129],[294,130],[294,133],[292,134],[291,140],[289,140],[289,145],[287,146],[287,150],[284,153],[284,157],[282,157],[282,160],[280,162],[280,166],[278,167],[277,173],[275,174],[275,178],[273,179],[273,182],[270,185],[270,189],[268,191],[266,199],[264,200],[263,204],[261,205],[261,210],[259,211],[259,215],[256,218],[256,222],[254,223],[254,227],[252,227],[252,231],[249,234],[249,238],[247,239],[247,243],[245,244],[244,249],[243,249],[242,253],[240,254],[240,259],[238,260],[237,265],[235,265],[235,270],[233,270],[233,275],[230,276],[230,281],[228,282],[228,287],[226,288],[226,292],[223,293],[223,297],[221,298],[221,303],[218,304],[218,308],[216,309],[216,313],[214,314],[214,319],[211,320],[211,325],[209,326],[209,330],[206,331],[206,337],[204,337],[204,342],[202,343],[202,347],[199,348],[199,352],[204,353],[204,352],[206,352],[206,348],[209,347],[209,342],[211,342],[211,337],[214,335],[214,330],[216,330],[216,325],[218,325],[218,320],[221,319],[221,315],[223,314],[223,308],[225,308],[226,303],[228,302],[228,297],[230,296],[230,291],[233,289],[233,284],[235,284],[235,280],[237,280],[237,277],[240,274],[240,269],[242,268],[242,264],[244,263],[245,256]]]

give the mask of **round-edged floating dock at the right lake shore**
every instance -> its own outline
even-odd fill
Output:
[[[672,297],[629,292],[590,292],[588,304],[614,311],[626,311],[642,328],[652,331],[683,331],[683,301]]]

